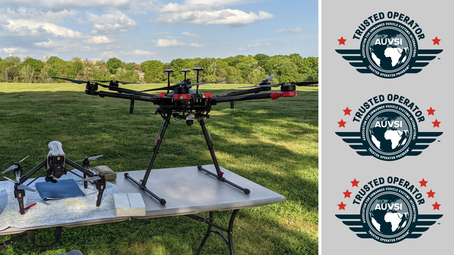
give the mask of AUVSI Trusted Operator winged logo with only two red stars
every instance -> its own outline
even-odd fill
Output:
[[[405,73],[417,73],[436,58],[442,49],[419,49],[418,40],[424,39],[423,30],[414,19],[398,12],[377,13],[365,19],[353,34],[360,40],[360,49],[336,49],[360,73],[395,78]],[[432,39],[434,45],[440,39]],[[346,39],[338,39],[339,45]]]

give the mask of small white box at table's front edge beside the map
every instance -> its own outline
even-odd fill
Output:
[[[115,216],[145,216],[146,208],[140,193],[114,194]]]

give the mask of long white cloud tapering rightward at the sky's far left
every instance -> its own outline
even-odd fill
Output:
[[[53,37],[63,38],[84,38],[84,34],[68,29],[57,24],[48,22],[37,22],[28,19],[7,19],[8,24],[4,24],[3,28],[19,35],[38,35],[47,33]]]

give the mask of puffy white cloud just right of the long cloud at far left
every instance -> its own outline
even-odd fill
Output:
[[[117,10],[112,13],[96,15],[87,12],[87,19],[93,24],[92,34],[119,34],[129,32],[131,27],[138,23],[129,18],[128,15]]]

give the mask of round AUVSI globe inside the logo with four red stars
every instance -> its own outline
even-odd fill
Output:
[[[408,121],[395,111],[382,111],[370,121],[368,138],[385,154],[399,152],[410,142]]]

